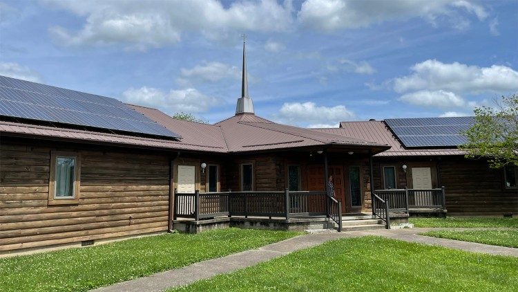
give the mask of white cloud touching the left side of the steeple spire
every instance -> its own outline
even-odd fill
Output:
[[[237,66],[231,66],[220,62],[205,62],[204,64],[196,65],[191,69],[182,68],[180,72],[182,77],[177,80],[180,84],[186,84],[193,80],[218,82],[224,78],[232,78],[236,80],[241,78],[241,69]]]

